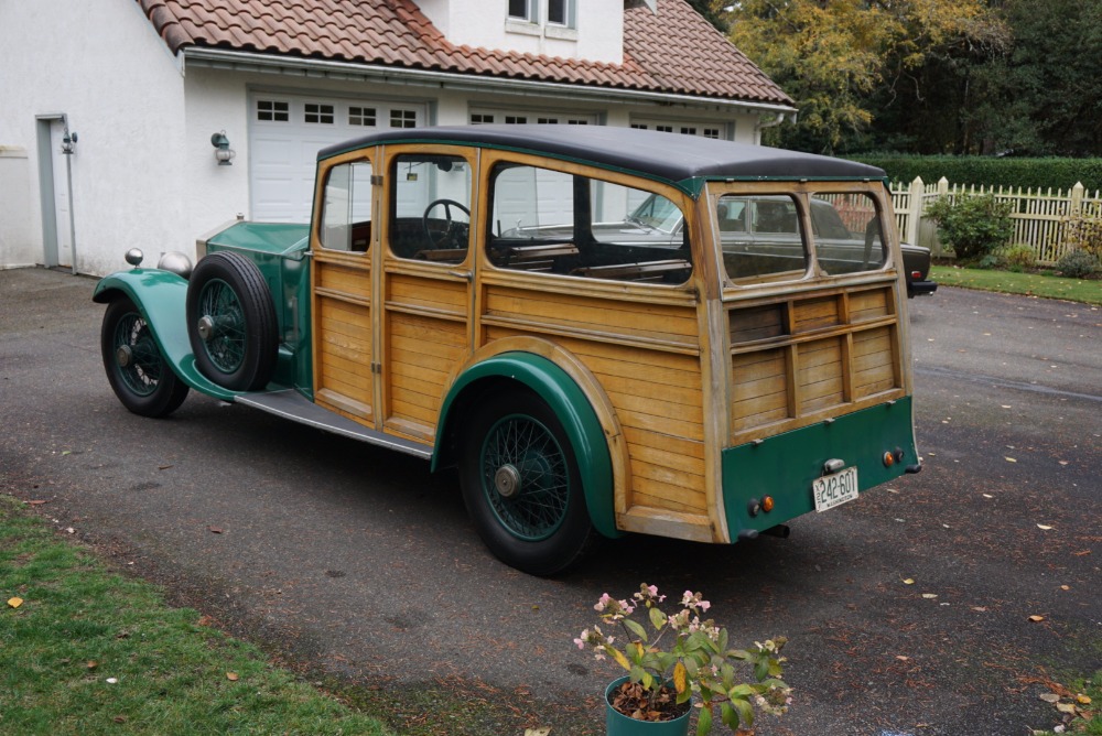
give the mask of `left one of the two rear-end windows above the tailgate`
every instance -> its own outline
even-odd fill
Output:
[[[793,197],[724,194],[715,210],[723,266],[732,281],[781,281],[807,273],[807,239]]]

